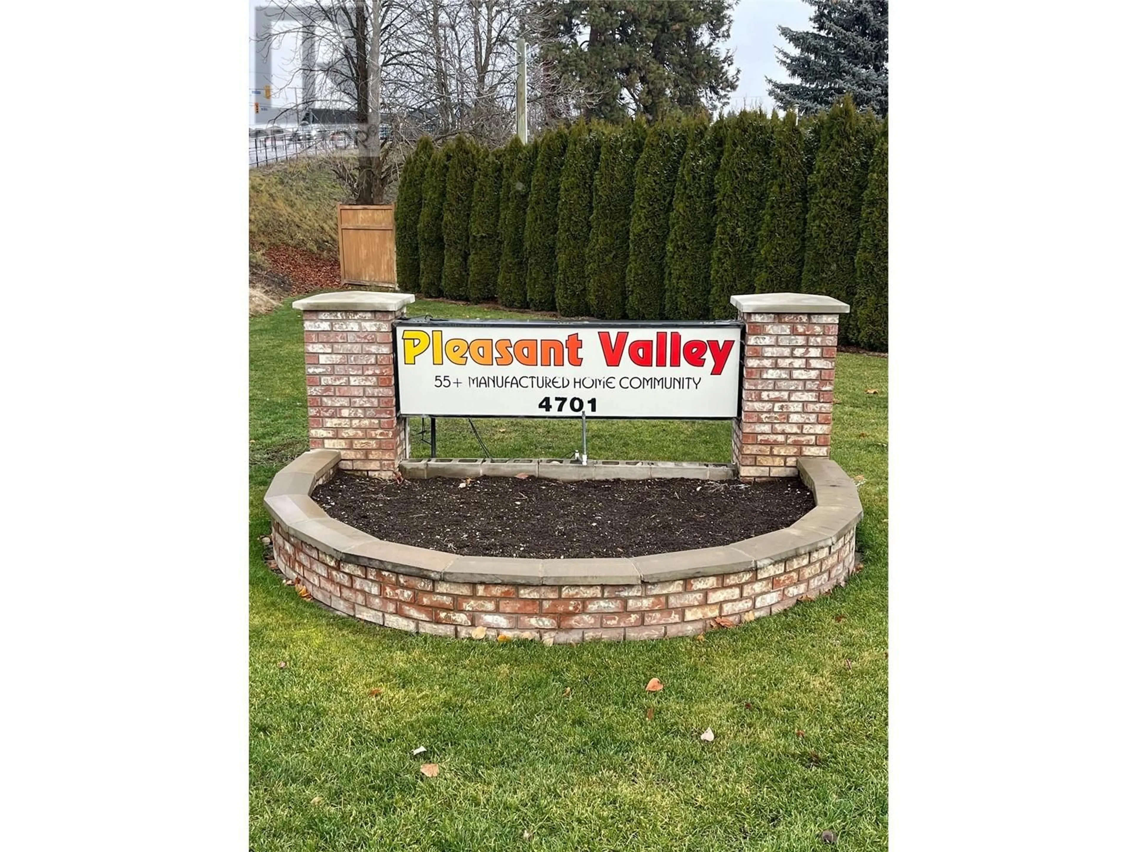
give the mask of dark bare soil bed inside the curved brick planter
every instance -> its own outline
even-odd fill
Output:
[[[787,527],[814,506],[797,477],[753,485],[489,476],[396,483],[338,474],[312,496],[331,517],[387,541],[539,559],[719,546]]]

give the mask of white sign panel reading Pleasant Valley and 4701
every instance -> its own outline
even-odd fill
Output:
[[[736,324],[404,320],[396,328],[402,415],[738,416]]]

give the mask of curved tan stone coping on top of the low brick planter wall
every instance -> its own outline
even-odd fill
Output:
[[[830,546],[863,516],[856,484],[837,462],[802,458],[798,475],[813,492],[815,508],[783,529],[753,538],[630,559],[463,557],[383,541],[330,518],[310,494],[339,459],[335,450],[309,450],[276,474],[265,507],[284,532],[339,560],[453,583],[623,585],[761,569]]]

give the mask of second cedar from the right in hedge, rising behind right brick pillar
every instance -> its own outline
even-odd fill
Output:
[[[802,291],[852,304],[856,251],[861,241],[861,199],[875,141],[872,116],[861,116],[853,100],[833,106],[821,122],[821,143],[810,175]],[[856,339],[856,317],[840,324],[840,342]]]

